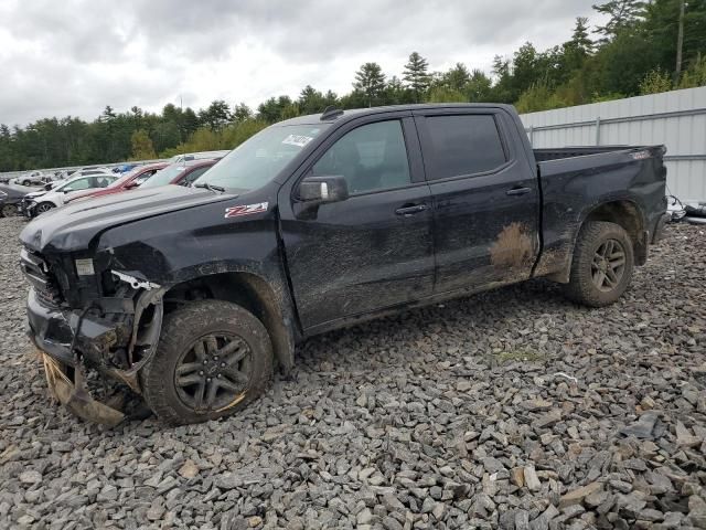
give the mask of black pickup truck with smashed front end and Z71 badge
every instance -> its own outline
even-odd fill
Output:
[[[231,414],[327,330],[539,276],[578,303],[616,301],[666,219],[664,152],[533,150],[505,105],[282,121],[192,188],[30,223],[29,335],[83,417],[122,418],[90,396],[92,374],[170,423]]]

